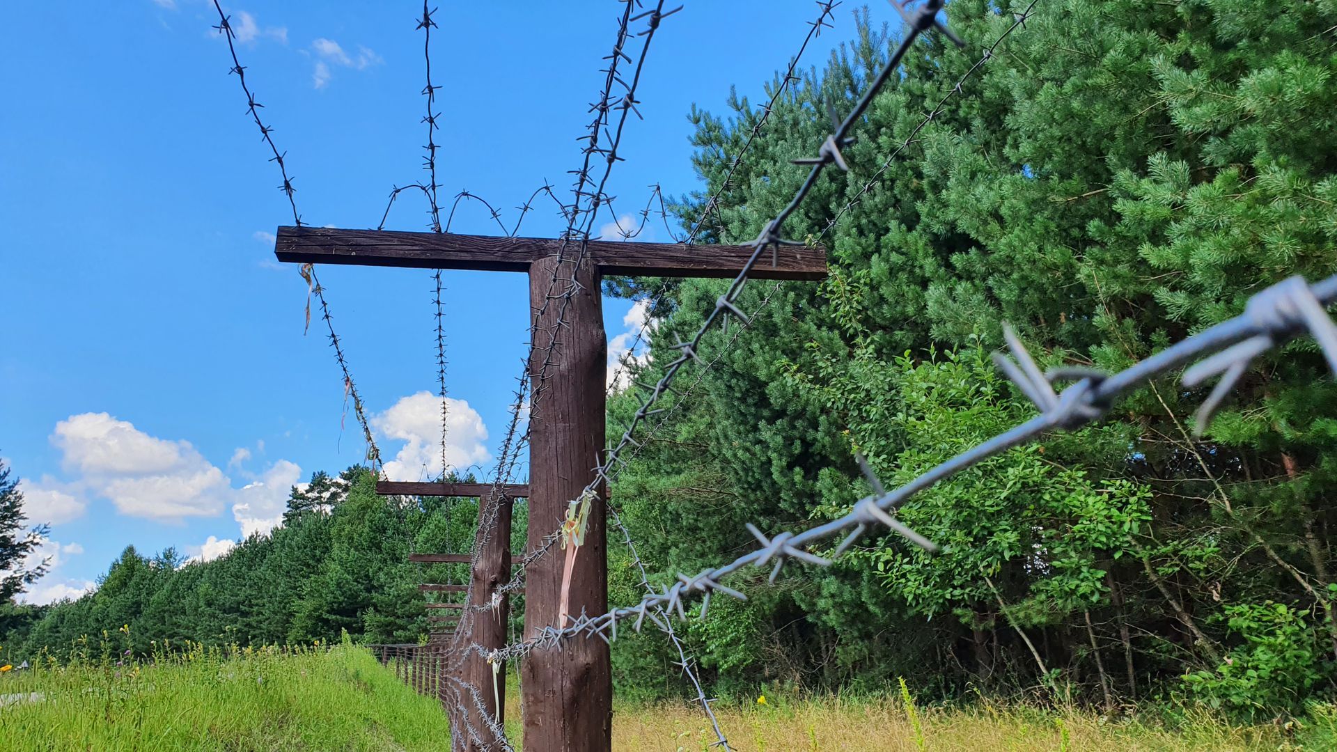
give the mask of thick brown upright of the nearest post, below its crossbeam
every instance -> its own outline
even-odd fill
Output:
[[[539,310],[554,272],[572,277],[571,262],[555,269],[556,258],[535,261],[529,272],[529,305]],[[591,460],[604,446],[604,379],[607,343],[599,300],[599,276],[588,265],[575,274],[580,292],[566,306],[568,326],[560,329],[555,364],[535,400],[529,427],[528,550],[562,523],[567,502],[595,480]],[[550,305],[535,325],[529,372],[537,375],[547,355],[559,308]],[[575,559],[570,613],[608,610],[606,488],[598,487],[590,507],[584,545]],[[564,551],[536,559],[525,574],[524,636],[558,626]],[[608,752],[612,747],[612,674],[608,644],[599,637],[564,640],[559,650],[535,650],[520,662],[525,752]]]

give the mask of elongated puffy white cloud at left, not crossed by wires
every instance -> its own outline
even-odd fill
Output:
[[[150,436],[106,412],[71,415],[51,442],[66,470],[122,514],[179,521],[222,511],[231,484],[190,442]]]

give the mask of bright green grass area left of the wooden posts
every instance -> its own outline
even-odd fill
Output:
[[[193,649],[116,665],[103,656],[0,674],[0,749],[433,751],[449,748],[440,705],[366,650]]]

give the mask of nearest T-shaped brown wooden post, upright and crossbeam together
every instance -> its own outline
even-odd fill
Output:
[[[584,261],[574,260],[584,250]],[[596,452],[604,439],[604,368],[599,281],[603,274],[644,277],[734,277],[753,256],[751,246],[563,241],[278,227],[274,254],[295,264],[353,264],[416,269],[527,272],[533,321],[529,373],[540,396],[529,430],[529,549],[562,525],[567,502],[595,480]],[[562,258],[562,261],[559,261]],[[767,261],[770,261],[767,258]],[[552,288],[554,273],[559,282]],[[775,249],[774,264],[761,264],[754,280],[820,280],[826,253],[804,246]],[[579,289],[570,300],[563,280]],[[539,312],[541,310],[541,314]],[[564,314],[563,314],[564,310]],[[555,344],[554,344],[555,340]],[[551,348],[552,361],[543,360]],[[598,486],[596,486],[598,487]],[[606,488],[591,506],[584,545],[575,561],[568,613],[596,616],[607,609]],[[550,554],[525,575],[525,637],[558,625],[562,557]],[[491,594],[489,594],[491,597]],[[611,748],[612,677],[608,646],[578,636],[558,650],[536,650],[521,665],[524,674],[525,752],[608,752]],[[471,676],[473,676],[471,673]],[[477,685],[480,690],[491,685]]]

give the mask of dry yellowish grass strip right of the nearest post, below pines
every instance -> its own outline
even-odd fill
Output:
[[[1316,713],[1292,729],[1235,727],[1202,711],[1175,723],[1154,717],[1107,720],[1084,711],[977,704],[916,705],[909,689],[885,697],[786,700],[714,707],[739,752],[1301,752],[1337,749],[1337,712]],[[910,711],[913,708],[913,712]],[[713,752],[699,705],[619,705],[612,748],[635,752]]]

